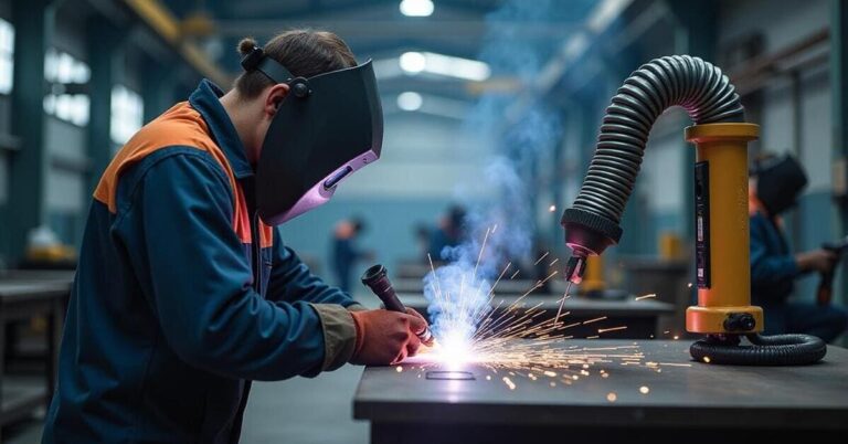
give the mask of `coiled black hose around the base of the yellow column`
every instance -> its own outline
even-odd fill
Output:
[[[735,366],[803,366],[822,360],[827,345],[809,335],[748,335],[751,346],[740,346],[739,337],[708,336],[689,348],[692,358],[710,363]]]

